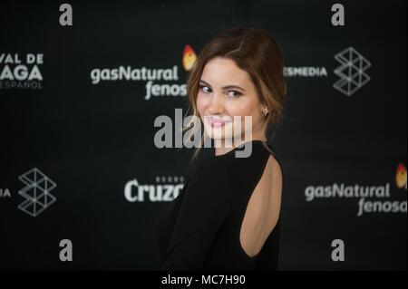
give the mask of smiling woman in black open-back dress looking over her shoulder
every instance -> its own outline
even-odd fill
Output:
[[[205,45],[187,90],[204,123],[201,144],[206,135],[214,140],[215,156],[193,166],[157,219],[159,268],[256,269],[264,248],[276,249],[283,176],[266,132],[281,119],[287,93],[282,54],[267,32],[230,28]],[[238,158],[244,147],[250,155]]]

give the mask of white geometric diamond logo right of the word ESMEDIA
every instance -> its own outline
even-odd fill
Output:
[[[365,71],[371,66],[371,63],[353,47],[335,54],[335,60],[341,63],[335,69],[335,74],[340,77],[340,80],[333,84],[337,91],[351,96],[370,81],[371,78]]]

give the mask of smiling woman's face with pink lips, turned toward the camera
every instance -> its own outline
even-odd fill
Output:
[[[262,112],[265,105],[259,102],[248,72],[230,59],[217,57],[204,67],[197,109],[211,139],[223,143],[224,140],[240,142],[246,140],[245,136],[254,140],[265,138],[266,121]],[[252,119],[252,126],[245,126],[245,116]],[[234,117],[240,118],[234,120]],[[214,119],[224,124],[214,123]]]

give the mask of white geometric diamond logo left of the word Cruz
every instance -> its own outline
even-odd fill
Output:
[[[55,183],[39,169],[30,169],[18,178],[26,185],[18,191],[19,195],[25,197],[18,208],[28,215],[37,217],[56,200],[49,193],[56,187]]]

